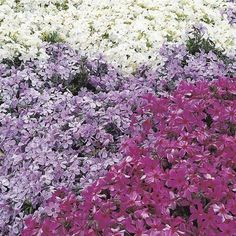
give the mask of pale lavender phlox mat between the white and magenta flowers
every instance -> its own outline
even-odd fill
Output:
[[[139,97],[167,95],[179,80],[232,75],[235,68],[214,52],[192,55],[186,45],[165,45],[164,67],[126,77],[63,44],[45,51],[47,61],[1,64],[0,227],[6,233],[17,234],[24,216],[56,188],[79,194],[121,159],[120,141],[130,133]]]

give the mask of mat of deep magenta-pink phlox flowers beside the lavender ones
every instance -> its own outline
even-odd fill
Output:
[[[236,79],[148,93],[127,156],[77,199],[56,191],[27,218],[33,235],[236,235]]]

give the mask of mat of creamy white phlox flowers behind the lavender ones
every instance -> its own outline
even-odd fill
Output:
[[[155,66],[163,42],[184,42],[196,23],[230,53],[235,12],[226,0],[1,0],[0,59],[45,59],[43,42],[66,42],[132,72],[142,63]]]

